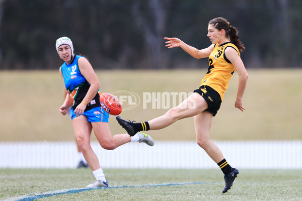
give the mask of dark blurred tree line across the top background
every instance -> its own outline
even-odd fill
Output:
[[[58,69],[61,36],[95,69],[206,68],[163,38],[208,47],[215,17],[240,31],[246,67],[301,67],[301,11],[300,0],[0,0],[0,69]]]

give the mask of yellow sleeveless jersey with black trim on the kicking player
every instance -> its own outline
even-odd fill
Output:
[[[239,56],[238,48],[231,42],[223,43],[220,46],[215,44],[213,51],[209,56],[209,68],[205,77],[201,80],[200,85],[207,85],[217,91],[223,100],[225,90],[229,86],[229,81],[235,71],[231,61],[224,54],[225,49],[234,48]]]

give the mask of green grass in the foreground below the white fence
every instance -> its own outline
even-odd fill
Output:
[[[40,200],[300,200],[302,170],[240,170],[233,187],[222,193],[218,169],[104,169],[110,186]],[[83,188],[90,169],[1,169],[0,199],[59,189]],[[204,182],[167,186],[135,186]],[[122,187],[122,186],[132,187]]]

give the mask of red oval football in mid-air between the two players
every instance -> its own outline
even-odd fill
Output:
[[[122,112],[122,106],[117,97],[110,93],[100,95],[101,107],[110,115],[119,115]]]

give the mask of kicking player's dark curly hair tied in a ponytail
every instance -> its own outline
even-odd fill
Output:
[[[239,49],[240,52],[243,52],[245,47],[244,44],[239,40],[239,35],[237,29],[233,27],[228,20],[225,18],[219,17],[210,20],[209,25],[212,25],[214,28],[225,31],[225,36],[230,37],[230,40],[236,47]]]

